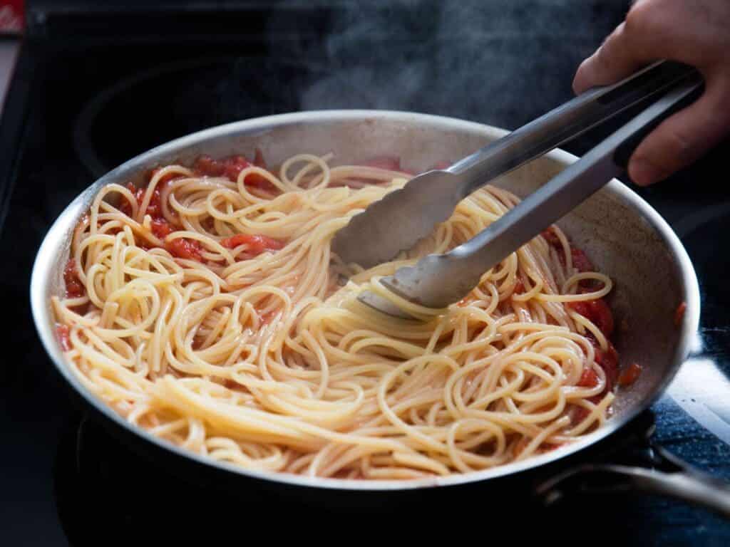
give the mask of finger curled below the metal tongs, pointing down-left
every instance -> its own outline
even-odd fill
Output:
[[[694,104],[664,120],[639,144],[629,160],[629,176],[637,185],[650,185],[694,163],[730,130],[730,100],[723,85],[707,84]]]

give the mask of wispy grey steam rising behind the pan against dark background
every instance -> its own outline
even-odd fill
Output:
[[[321,72],[301,89],[301,109],[402,109],[514,128],[572,97],[577,65],[628,4],[344,3],[320,47],[272,47]]]

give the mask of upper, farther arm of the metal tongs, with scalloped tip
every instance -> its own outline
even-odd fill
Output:
[[[632,106],[656,100],[687,77],[699,79],[699,73],[661,61],[614,85],[588,90],[449,168],[426,171],[371,203],[335,234],[332,250],[364,268],[391,260],[428,236],[477,188]]]

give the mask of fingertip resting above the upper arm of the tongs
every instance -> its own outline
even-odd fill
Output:
[[[573,79],[575,93],[583,93],[596,85],[618,82],[656,60],[659,56],[654,51],[656,48],[642,42],[645,39],[632,35],[631,28],[627,30],[626,23],[621,23],[596,53],[580,63]]]

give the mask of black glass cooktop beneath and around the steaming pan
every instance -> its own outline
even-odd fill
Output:
[[[97,176],[139,152],[211,125],[307,109],[414,110],[514,128],[571,96],[577,63],[627,4],[339,1],[144,15],[31,6],[0,124],[0,298],[13,313],[0,375],[0,543],[245,542],[262,529],[272,538],[332,540],[341,526],[385,540],[392,525],[439,535],[458,529],[469,540],[509,529],[564,538],[580,527],[582,537],[623,544],[728,545],[730,525],[719,517],[635,495],[577,496],[550,508],[510,501],[494,513],[504,489],[484,486],[456,497],[470,513],[404,506],[372,521],[276,492],[223,494],[188,484],[72,405],[28,309],[32,261],[50,223]],[[566,148],[581,153],[597,138]],[[693,168],[639,190],[683,239],[702,286],[696,351],[653,407],[654,438],[725,478],[730,195],[718,166],[729,152],[726,142]],[[484,513],[474,511],[480,503]]]

